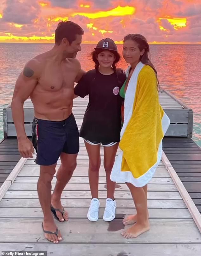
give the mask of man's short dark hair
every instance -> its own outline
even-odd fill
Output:
[[[60,21],[55,30],[55,44],[60,45],[65,37],[69,44],[76,40],[76,35],[83,35],[84,30],[72,21]]]

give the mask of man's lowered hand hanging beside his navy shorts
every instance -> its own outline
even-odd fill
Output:
[[[28,138],[18,139],[18,150],[22,157],[33,158],[34,147]]]

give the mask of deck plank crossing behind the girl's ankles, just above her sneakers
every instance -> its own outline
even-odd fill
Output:
[[[148,192],[147,193],[148,199],[170,199],[170,200],[182,200],[179,192]],[[7,191],[3,197],[4,199],[36,199],[38,198],[37,191]],[[62,199],[91,199],[91,192],[90,191],[63,191],[62,192]],[[107,191],[100,191],[99,192],[99,199],[106,199],[107,198]],[[116,191],[115,192],[115,199],[132,199],[131,193],[124,192],[124,191]]]

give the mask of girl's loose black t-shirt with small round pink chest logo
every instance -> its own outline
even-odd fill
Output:
[[[80,137],[89,141],[118,142],[121,131],[121,102],[119,91],[126,75],[120,71],[103,75],[99,71],[88,71],[75,86],[75,95],[89,103],[80,129]]]

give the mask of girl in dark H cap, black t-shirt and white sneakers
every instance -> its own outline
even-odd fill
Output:
[[[89,103],[80,129],[89,156],[89,185],[92,195],[87,217],[91,221],[99,218],[98,182],[101,165],[101,144],[104,150],[104,168],[107,182],[107,199],[103,219],[115,218],[115,182],[110,173],[120,141],[121,97],[119,91],[126,75],[116,70],[120,60],[117,46],[110,38],[101,40],[92,52],[95,69],[88,71],[75,86],[75,97],[89,95]]]

